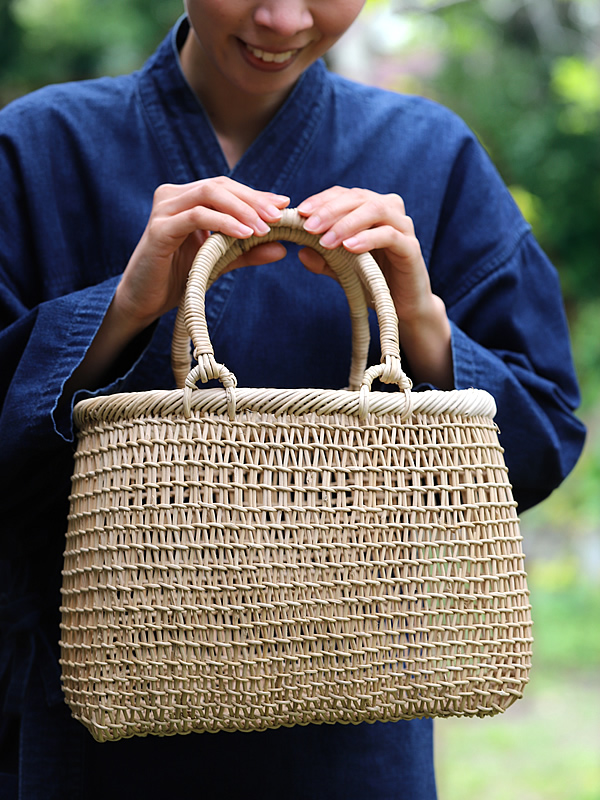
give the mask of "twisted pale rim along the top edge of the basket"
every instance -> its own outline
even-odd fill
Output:
[[[80,400],[74,408],[77,427],[93,422],[117,422],[140,417],[181,417],[185,420],[183,389],[155,389],[99,395]],[[192,419],[200,415],[227,416],[227,392],[222,388],[198,389],[191,393]],[[344,414],[359,420],[360,393],[347,389],[237,389],[236,419],[244,413],[269,416],[327,416]],[[413,392],[370,392],[369,416],[451,414],[489,417],[496,403],[484,389],[431,389]],[[363,423],[364,424],[364,423]]]

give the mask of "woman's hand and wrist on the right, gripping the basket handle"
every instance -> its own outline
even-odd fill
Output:
[[[404,201],[397,194],[334,186],[300,203],[304,227],[326,249],[371,252],[388,283],[400,341],[413,376],[439,388],[453,386],[451,331],[445,305],[431,291],[429,274]],[[300,251],[309,270],[333,275],[314,250]]]

